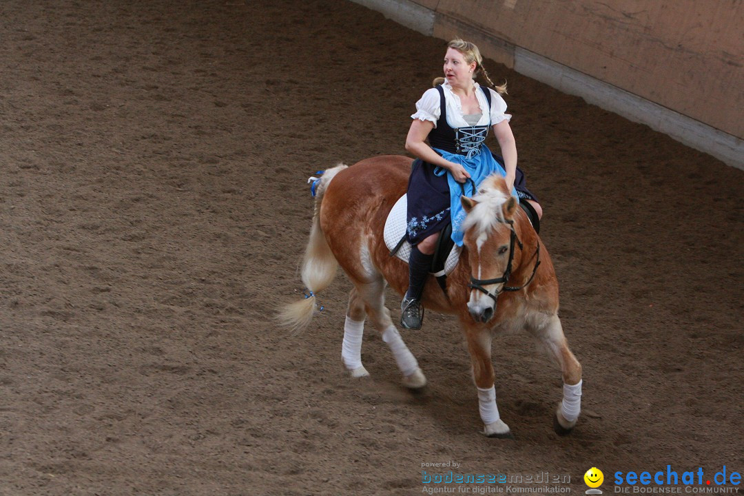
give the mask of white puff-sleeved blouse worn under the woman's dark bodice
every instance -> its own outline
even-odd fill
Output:
[[[473,81],[475,86],[475,97],[478,98],[478,105],[481,106],[481,119],[478,120],[476,126],[488,126],[489,120],[491,125],[496,125],[502,120],[511,120],[510,114],[505,114],[507,110],[507,103],[501,98],[501,95],[493,91],[491,88],[487,88],[491,92],[491,112],[488,112],[488,100],[483,91],[479,90],[480,85]],[[463,109],[460,103],[460,97],[452,92],[452,86],[449,82],[445,81],[442,83],[444,89],[444,104],[447,109],[447,123],[452,129],[458,127],[469,127],[470,124],[466,123],[463,118]],[[437,127],[437,120],[441,114],[440,102],[439,102],[439,91],[437,88],[429,88],[423,94],[420,100],[416,102],[416,113],[411,115],[413,119],[420,120],[431,120],[434,123],[434,127]]]

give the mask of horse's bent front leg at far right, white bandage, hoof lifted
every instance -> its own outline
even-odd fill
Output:
[[[553,428],[560,436],[571,433],[581,411],[581,364],[568,348],[558,315],[548,319],[545,326],[533,329],[532,334],[558,362],[563,375],[563,399],[559,402]]]

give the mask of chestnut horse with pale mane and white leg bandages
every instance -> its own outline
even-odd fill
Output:
[[[341,346],[345,369],[353,378],[369,376],[361,359],[364,321],[369,316],[394,355],[403,386],[419,390],[426,385],[426,376],[385,307],[387,284],[401,295],[408,288],[408,265],[391,257],[383,229],[394,203],[406,191],[410,170],[411,158],[381,155],[323,173],[315,184],[315,211],[301,265],[310,294],[280,307],[278,318],[295,330],[307,327],[317,306],[315,295],[330,286],[341,265],[353,283]],[[551,257],[503,177],[490,175],[472,198],[461,196],[461,203],[466,217],[460,261],[447,277],[446,291],[428,278],[423,306],[455,315],[460,322],[484,434],[512,437],[496,405],[491,343],[500,332],[522,329],[561,367],[563,398],[555,410],[554,430],[568,434],[579,417],[582,369],[558,318],[558,282]]]

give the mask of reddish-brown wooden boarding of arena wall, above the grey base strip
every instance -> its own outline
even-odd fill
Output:
[[[434,32],[457,23],[744,138],[738,0],[440,0]]]

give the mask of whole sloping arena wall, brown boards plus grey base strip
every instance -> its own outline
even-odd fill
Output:
[[[744,0],[353,1],[744,169]]]

